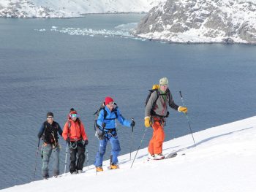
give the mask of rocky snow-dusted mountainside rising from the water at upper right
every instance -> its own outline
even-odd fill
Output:
[[[148,12],[136,34],[169,42],[256,44],[256,0],[167,0]]]

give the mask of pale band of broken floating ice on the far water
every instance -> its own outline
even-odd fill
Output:
[[[135,27],[138,25],[138,23],[127,23],[127,24],[121,24],[119,26],[116,26],[116,30],[107,30],[107,29],[99,29],[94,30],[92,28],[72,28],[72,27],[64,27],[59,28],[58,26],[52,26],[50,29],[46,30],[43,29],[34,29],[35,31],[53,31],[53,32],[59,32],[63,34],[69,34],[69,35],[80,35],[80,36],[102,36],[102,37],[123,37],[123,38],[131,38],[131,39],[138,39],[138,40],[146,40],[140,37],[135,37],[132,32],[134,31]]]

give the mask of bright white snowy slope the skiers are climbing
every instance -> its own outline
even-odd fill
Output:
[[[2,191],[252,192],[256,188],[255,124],[256,116],[197,132],[197,147],[193,146],[191,135],[165,142],[164,153],[179,150],[176,158],[146,161],[145,148],[139,151],[132,169],[127,154],[119,158],[121,169],[108,170],[105,161],[105,171],[97,175],[94,166],[90,166],[82,174],[67,174]]]

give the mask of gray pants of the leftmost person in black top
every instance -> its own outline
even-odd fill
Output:
[[[54,149],[52,145],[48,144],[42,147],[42,177],[49,177],[48,164],[50,160],[50,155],[53,153],[53,176],[59,175],[59,145]]]

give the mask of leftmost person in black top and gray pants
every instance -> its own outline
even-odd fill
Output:
[[[42,123],[38,132],[38,138],[42,137],[42,177],[48,179],[48,164],[50,155],[53,154],[53,177],[59,175],[59,152],[61,147],[58,142],[58,133],[61,136],[62,130],[59,123],[53,120],[53,112],[46,114],[46,121]]]

